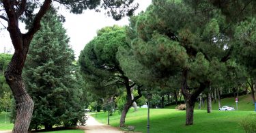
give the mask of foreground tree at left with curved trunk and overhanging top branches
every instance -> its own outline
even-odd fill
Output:
[[[86,9],[104,8],[109,9],[108,13],[113,18],[119,19],[124,15],[131,15],[138,5],[132,6],[133,0],[100,0],[97,1],[56,1],[65,5],[71,12],[79,14]],[[52,0],[44,1],[0,1],[0,10],[3,14],[0,18],[8,22],[7,30],[10,33],[12,44],[14,46],[14,55],[8,65],[8,70],[5,72],[5,78],[10,86],[14,98],[17,103],[17,116],[14,124],[13,132],[27,132],[29,128],[30,119],[33,112],[33,100],[25,89],[22,80],[23,67],[27,53],[29,51],[29,44],[33,35],[40,29],[40,21],[42,16],[50,8]],[[131,8],[129,8],[131,6]],[[34,14],[35,9],[39,9],[38,13]],[[21,33],[18,21],[22,20],[27,23],[27,33]]]

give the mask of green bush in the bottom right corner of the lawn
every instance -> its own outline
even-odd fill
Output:
[[[256,114],[251,114],[245,117],[240,125],[244,128],[245,132],[253,133],[256,132]]]

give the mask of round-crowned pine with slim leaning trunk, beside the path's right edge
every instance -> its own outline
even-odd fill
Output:
[[[120,118],[120,127],[123,127],[130,106],[141,97],[141,92],[138,87],[139,95],[132,100],[131,88],[136,84],[129,80],[119,66],[116,56],[120,46],[128,47],[125,29],[117,26],[104,27],[98,31],[97,37],[85,46],[79,56],[79,63],[81,71],[87,75],[85,77],[98,82],[102,89],[113,86],[125,87],[126,104]]]

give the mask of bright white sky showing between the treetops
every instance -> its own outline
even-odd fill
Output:
[[[135,0],[139,3],[139,9],[136,10],[136,14],[145,10],[148,5],[150,5],[151,0]],[[66,17],[66,22],[63,24],[63,27],[67,30],[67,35],[70,37],[70,45],[74,50],[75,56],[79,57],[80,51],[83,50],[85,44],[92,40],[96,36],[98,29],[106,26],[112,25],[128,25],[128,17],[122,18],[122,20],[115,21],[113,18],[108,17],[104,12],[95,12],[94,10],[85,10],[83,14],[70,14],[69,12],[61,11],[63,16]],[[0,19],[1,23],[3,20]],[[2,27],[0,23],[0,27]],[[23,24],[20,24],[20,27],[24,27]],[[21,31],[24,31],[20,28]],[[24,31],[25,32],[25,31]],[[10,35],[8,31],[0,31],[0,53],[6,50],[12,49],[12,42],[10,40]]]

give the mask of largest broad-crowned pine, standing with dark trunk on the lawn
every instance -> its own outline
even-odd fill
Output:
[[[196,12],[184,1],[152,3],[130,21],[132,48],[122,51],[121,66],[129,78],[154,88],[170,87],[178,78],[186,100],[186,125],[192,125],[197,97],[222,76],[219,71],[230,59],[229,38],[221,33],[225,17],[219,10],[203,12],[212,8],[210,3],[198,5]]]

